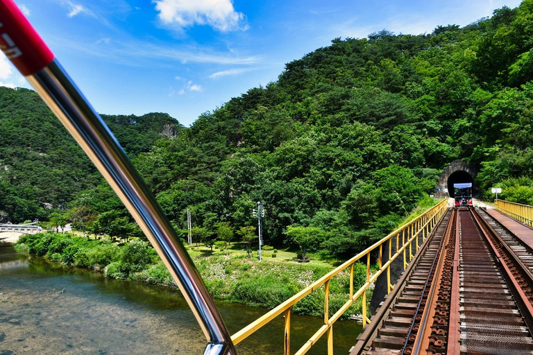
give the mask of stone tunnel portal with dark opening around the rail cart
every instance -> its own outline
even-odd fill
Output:
[[[439,176],[437,187],[435,187],[435,197],[448,198],[454,197],[453,184],[457,182],[472,182],[473,193],[475,194],[475,176],[477,169],[471,164],[462,160],[454,160],[448,165]]]

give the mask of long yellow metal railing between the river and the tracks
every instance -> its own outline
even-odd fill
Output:
[[[248,338],[248,336],[251,336],[251,334],[255,333],[255,331],[259,330],[261,327],[263,327],[265,324],[269,323],[274,318],[278,317],[278,315],[285,315],[285,337],[284,337],[284,345],[285,345],[285,354],[289,355],[291,351],[291,306],[296,304],[296,302],[303,299],[303,297],[309,295],[312,293],[312,291],[315,291],[318,288],[321,288],[324,286],[324,324],[323,326],[316,331],[316,333],[309,339],[307,342],[295,353],[296,355],[305,354],[324,334],[327,333],[328,336],[328,354],[333,354],[333,323],[335,323],[341,315],[344,314],[348,310],[348,308],[359,298],[359,296],[362,296],[362,306],[363,306],[363,326],[370,322],[369,318],[366,316],[366,291],[370,288],[371,284],[375,282],[376,279],[383,273],[387,272],[387,291],[388,293],[391,293],[392,285],[391,285],[391,270],[390,266],[391,263],[400,255],[403,256],[403,268],[407,268],[407,265],[409,262],[413,259],[414,254],[416,254],[416,251],[418,251],[418,248],[420,248],[420,245],[418,243],[418,236],[421,235],[423,241],[425,241],[425,238],[430,234],[430,232],[433,230],[433,227],[437,225],[437,222],[443,216],[443,214],[446,212],[447,209],[447,202],[446,200],[442,200],[437,205],[426,211],[421,216],[418,216],[414,220],[410,221],[409,223],[403,225],[402,227],[399,227],[397,230],[389,234],[388,236],[384,237],[377,243],[374,243],[371,245],[371,247],[367,248],[366,250],[360,252],[352,259],[346,261],[341,266],[336,268],[335,270],[332,270],[328,272],[328,274],[324,275],[320,279],[318,279],[316,282],[310,284],[310,286],[307,286],[302,291],[296,293],[296,295],[289,298],[289,300],[283,302],[279,306],[277,306],[275,309],[272,309],[268,313],[262,315],[262,317],[258,318],[251,324],[248,324],[248,326],[244,327],[240,331],[237,331],[237,333],[233,334],[231,336],[231,340],[233,344],[237,345],[241,343],[244,339]],[[388,256],[389,260],[386,263],[383,263],[383,248],[385,243],[389,242],[388,245]],[[396,243],[396,252],[392,254],[392,245],[393,243]],[[387,248],[387,247],[385,247]],[[370,272],[370,254],[371,252],[377,252],[379,251],[378,255],[378,263],[379,263],[379,270],[375,272],[375,274],[371,275]],[[366,257],[366,282],[364,283],[359,290],[357,290],[354,293],[353,290],[353,266],[354,264],[361,260],[365,259]],[[329,316],[329,290],[330,290],[330,279],[334,277],[335,275],[339,274],[339,272],[346,270],[347,268],[350,268],[350,297],[348,301],[341,306],[341,308],[331,317]]]

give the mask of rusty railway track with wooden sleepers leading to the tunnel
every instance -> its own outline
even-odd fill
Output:
[[[484,211],[450,209],[354,354],[533,354],[533,254]]]

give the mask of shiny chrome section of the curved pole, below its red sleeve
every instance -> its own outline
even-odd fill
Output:
[[[57,60],[26,78],[90,157],[157,250],[210,342],[204,354],[236,354],[228,329],[192,259],[99,114]]]

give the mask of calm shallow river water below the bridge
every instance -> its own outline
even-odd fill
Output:
[[[267,311],[228,302],[217,306],[231,334]],[[291,316],[293,352],[321,322]],[[360,331],[354,321],[336,324],[335,354],[348,354]],[[0,243],[0,355],[202,354],[205,343],[179,291],[106,279]],[[317,346],[308,354],[326,353],[325,340]],[[244,340],[237,352],[282,354],[283,319]]]

